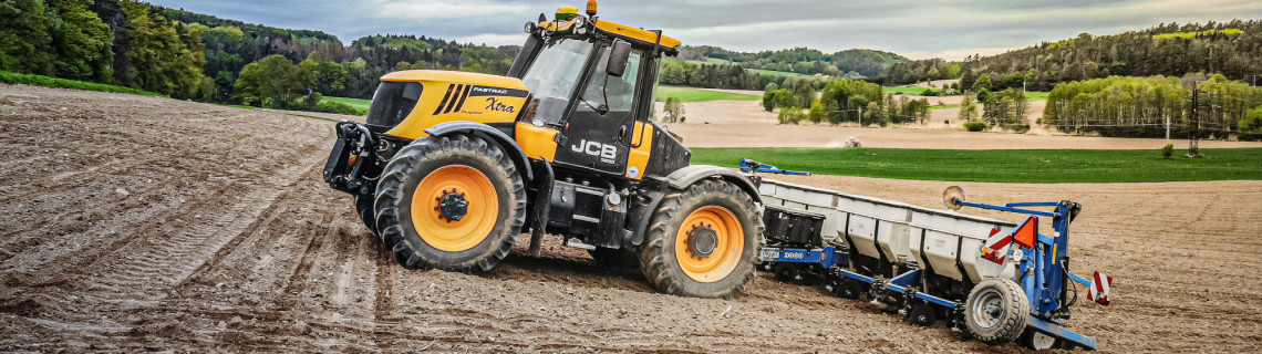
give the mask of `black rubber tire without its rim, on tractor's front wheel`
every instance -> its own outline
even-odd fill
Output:
[[[449,166],[480,173],[490,181],[497,202],[498,213],[491,231],[477,244],[462,251],[432,246],[418,233],[413,220],[411,204],[418,186],[432,173]],[[374,207],[377,231],[403,266],[477,273],[491,270],[509,256],[525,223],[526,191],[520,173],[500,146],[477,136],[452,134],[423,137],[400,149],[381,173]]]

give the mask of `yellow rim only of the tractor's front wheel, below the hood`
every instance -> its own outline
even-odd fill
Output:
[[[452,197],[448,197],[452,195]],[[459,219],[443,217],[444,197],[468,202]],[[500,198],[481,171],[451,165],[430,173],[411,195],[411,224],[420,239],[444,252],[461,252],[482,243],[500,218]]]

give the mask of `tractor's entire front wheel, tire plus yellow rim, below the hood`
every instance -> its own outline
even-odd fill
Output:
[[[375,208],[377,231],[399,263],[477,273],[509,256],[525,222],[526,193],[500,146],[452,134],[399,150],[377,183]]]

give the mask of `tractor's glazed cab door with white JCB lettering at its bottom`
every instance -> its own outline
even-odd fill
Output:
[[[602,173],[623,175],[632,147],[635,97],[644,53],[632,49],[621,77],[607,72],[610,47],[598,49],[586,87],[574,98],[574,111],[562,131],[557,161]]]

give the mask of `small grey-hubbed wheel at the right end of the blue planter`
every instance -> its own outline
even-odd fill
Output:
[[[1006,278],[988,278],[973,287],[964,302],[964,324],[977,340],[1000,345],[1026,330],[1030,301],[1021,286]]]

